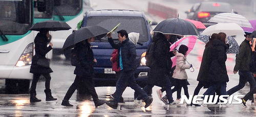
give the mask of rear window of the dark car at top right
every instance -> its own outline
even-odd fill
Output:
[[[231,12],[231,6],[229,4],[221,3],[202,3],[200,6],[201,11],[210,12]]]

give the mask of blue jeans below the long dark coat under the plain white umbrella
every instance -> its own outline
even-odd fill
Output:
[[[212,84],[205,92],[205,95],[215,95],[215,92],[220,89],[220,95],[226,95],[227,82],[216,82]]]

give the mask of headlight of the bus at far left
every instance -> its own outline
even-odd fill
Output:
[[[32,57],[33,57],[33,47],[34,43],[30,43],[27,45],[25,50],[23,51],[22,55],[20,55],[19,60],[17,61],[17,67],[31,65]]]

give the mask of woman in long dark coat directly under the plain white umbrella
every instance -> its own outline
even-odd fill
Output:
[[[226,69],[226,60],[228,49],[226,45],[226,34],[219,33],[218,39],[212,41],[211,63],[209,65],[209,81],[212,85],[206,90],[204,95],[215,95],[220,89],[220,95],[226,95],[226,85],[229,81]]]

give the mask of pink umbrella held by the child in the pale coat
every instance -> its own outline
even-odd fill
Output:
[[[170,46],[170,51],[173,51],[175,49],[179,50],[180,45],[186,45],[188,47],[188,50],[187,50],[187,54],[188,54],[194,48],[196,41],[197,41],[196,36],[181,38],[180,40],[176,41],[174,44]],[[176,56],[172,57],[172,61],[173,61],[172,67],[176,66],[176,60],[177,60]]]

